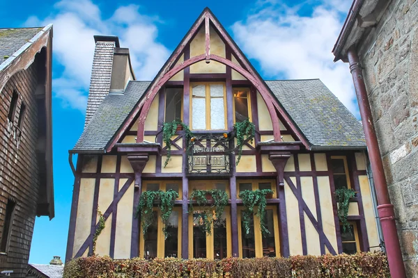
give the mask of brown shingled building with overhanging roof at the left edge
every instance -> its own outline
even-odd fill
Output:
[[[36,215],[54,218],[52,25],[0,29],[0,276],[24,277]]]

